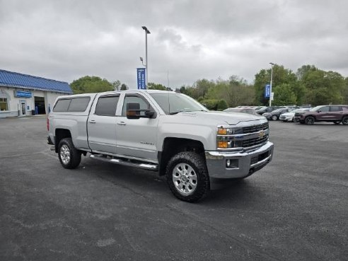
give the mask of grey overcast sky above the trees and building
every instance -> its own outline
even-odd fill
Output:
[[[146,25],[149,82],[171,88],[253,83],[269,62],[347,77],[347,10],[347,0],[0,0],[0,69],[137,88]]]

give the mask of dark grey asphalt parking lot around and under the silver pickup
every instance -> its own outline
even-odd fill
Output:
[[[190,204],[146,170],[62,168],[45,117],[0,119],[0,260],[347,260],[348,126],[269,124],[272,163]]]

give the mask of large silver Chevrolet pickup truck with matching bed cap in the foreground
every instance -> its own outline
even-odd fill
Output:
[[[172,91],[112,91],[57,98],[48,143],[64,168],[81,155],[166,175],[175,197],[197,202],[272,160],[265,117],[213,112]]]

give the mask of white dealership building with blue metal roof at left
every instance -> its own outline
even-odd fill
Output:
[[[69,94],[64,81],[0,69],[0,118],[47,114],[58,96]]]

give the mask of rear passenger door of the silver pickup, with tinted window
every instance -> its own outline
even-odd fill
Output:
[[[88,145],[94,152],[116,153],[116,108],[120,94],[100,95],[87,120]]]

